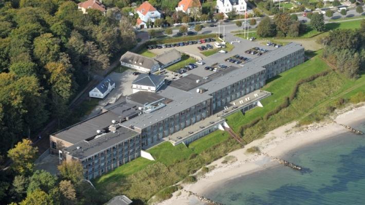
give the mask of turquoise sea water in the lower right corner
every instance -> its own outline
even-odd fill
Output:
[[[353,126],[365,132],[365,122]],[[365,135],[346,133],[282,157],[306,170],[275,166],[212,187],[224,204],[365,204]]]

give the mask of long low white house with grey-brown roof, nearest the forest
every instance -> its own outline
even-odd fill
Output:
[[[155,59],[130,51],[127,51],[120,57],[120,65],[144,73],[154,73],[160,68],[160,64]]]

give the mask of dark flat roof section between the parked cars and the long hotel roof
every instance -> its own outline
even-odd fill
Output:
[[[178,88],[180,90],[189,91],[193,88],[196,88],[200,85],[203,85],[210,81],[209,78],[202,78],[198,75],[189,74],[185,77],[181,77],[175,81],[173,81],[170,86]]]

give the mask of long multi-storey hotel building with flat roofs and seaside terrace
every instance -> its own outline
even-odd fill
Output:
[[[304,48],[289,43],[209,76],[166,80],[155,92],[123,97],[101,114],[53,133],[50,151],[61,160],[80,160],[85,178],[95,178],[143,156],[143,150],[162,141],[188,145],[228,126],[226,115],[262,106],[260,100],[270,95],[260,90],[266,79],[303,62]],[[158,82],[151,79],[160,78],[145,79],[150,81],[142,84],[154,85]]]

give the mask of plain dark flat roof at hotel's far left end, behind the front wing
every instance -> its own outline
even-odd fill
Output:
[[[113,112],[104,112],[52,135],[75,144],[81,140],[97,135],[96,131],[103,130],[109,127],[109,125],[112,125],[112,120],[118,121],[120,118]]]

